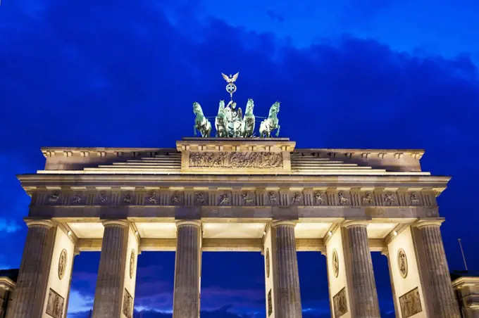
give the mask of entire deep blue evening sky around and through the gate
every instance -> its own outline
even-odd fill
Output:
[[[423,169],[453,177],[439,198],[449,265],[463,268],[461,237],[479,268],[478,2],[258,2],[1,1],[0,267],[20,264],[29,198],[15,174],[42,169],[41,146],[173,146],[192,134],[192,102],[215,115],[220,72],[239,71],[239,104],[261,116],[281,101],[299,147],[425,148]],[[325,257],[298,257],[304,317],[329,317]],[[70,317],[92,305],[98,263],[76,257]],[[386,317],[386,258],[373,263]],[[203,264],[201,317],[265,316],[259,253]],[[142,318],[171,317],[174,254],[138,265]]]

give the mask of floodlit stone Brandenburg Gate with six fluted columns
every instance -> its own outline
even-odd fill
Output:
[[[301,317],[304,250],[326,255],[332,317],[380,317],[374,251],[396,317],[461,317],[436,203],[449,177],[423,172],[423,151],[299,149],[266,124],[176,148],[42,148],[44,170],[18,176],[32,201],[7,317],[65,317],[75,255],[101,251],[93,317],[132,318],[145,250],[176,253],[174,318],[199,317],[203,251],[262,253],[266,317]]]

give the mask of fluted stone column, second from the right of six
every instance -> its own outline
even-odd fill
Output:
[[[373,272],[373,260],[368,242],[368,223],[366,221],[349,220],[344,222],[351,260],[352,308],[353,317],[380,318],[378,291]]]

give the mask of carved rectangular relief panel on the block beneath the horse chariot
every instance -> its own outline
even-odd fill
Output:
[[[281,153],[189,153],[189,167],[207,168],[282,168]]]

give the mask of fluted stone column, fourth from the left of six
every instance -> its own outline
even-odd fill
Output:
[[[298,260],[294,240],[294,222],[272,224],[274,236],[275,318],[301,318]]]

